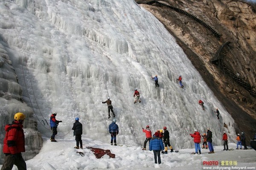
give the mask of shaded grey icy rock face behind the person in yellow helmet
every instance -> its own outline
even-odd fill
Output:
[[[23,158],[27,160],[39,152],[43,140],[37,130],[37,122],[32,117],[32,109],[21,100],[22,88],[18,84],[8,51],[10,49],[0,37],[0,150],[3,150],[6,122],[12,123],[14,114],[22,112],[26,115],[24,122],[26,152],[23,153]],[[0,158],[0,164],[3,164],[3,152],[0,152]]]

